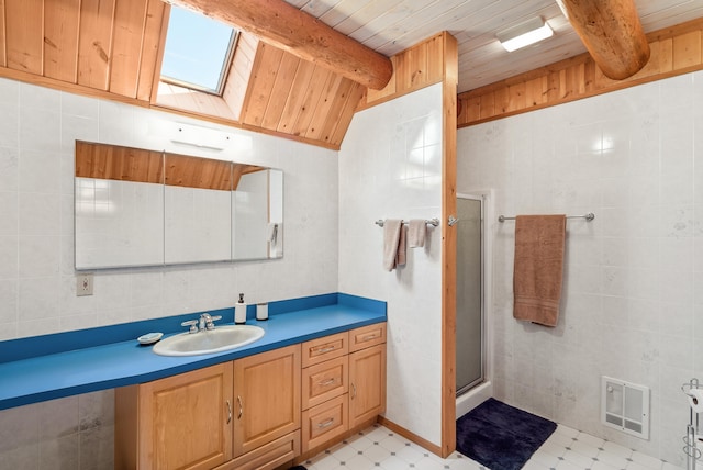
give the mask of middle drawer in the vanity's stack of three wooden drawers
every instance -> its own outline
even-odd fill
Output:
[[[349,357],[342,356],[303,369],[302,409],[319,405],[349,390]]]

